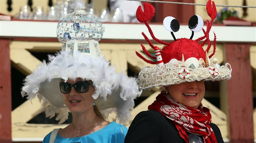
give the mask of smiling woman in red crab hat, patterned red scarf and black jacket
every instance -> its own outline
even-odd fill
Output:
[[[211,123],[210,110],[202,105],[205,94],[204,81],[228,80],[231,78],[231,66],[226,63],[219,66],[211,62],[215,53],[216,36],[214,34],[213,53],[209,54],[209,32],[217,12],[214,2],[208,0],[207,13],[211,20],[203,29],[203,20],[194,15],[189,20],[191,37],[176,39],[180,25],[174,17],[163,20],[165,29],[171,32],[174,41],[171,43],[157,39],[148,21],[154,16],[155,9],[151,4],[144,3],[144,12],[137,9],[137,19],[148,27],[150,36],[156,42],[163,44],[162,50],[154,46],[149,38],[142,33],[155,56],[150,55],[145,46],[141,47],[146,55],[156,61],[151,61],[137,53],[147,63],[154,67],[143,67],[137,83],[140,89],[148,90],[155,86],[165,88],[156,100],[148,106],[148,111],[140,112],[132,121],[125,138],[125,143],[223,143],[221,132],[217,125]],[[203,30],[204,36],[192,40],[194,32]],[[203,40],[201,44],[198,42]],[[206,50],[204,44],[208,43]]]

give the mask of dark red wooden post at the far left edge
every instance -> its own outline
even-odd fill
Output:
[[[0,39],[0,143],[11,143],[10,40]]]

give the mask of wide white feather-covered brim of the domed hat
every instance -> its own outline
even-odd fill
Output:
[[[104,57],[91,57],[82,53],[71,56],[66,52],[49,56],[50,62],[43,62],[37,69],[26,77],[22,88],[22,96],[28,99],[37,97],[41,100],[42,110],[46,116],[54,117],[64,122],[68,116],[68,109],[64,107],[63,95],[59,82],[68,79],[91,80],[95,87],[92,97],[103,115],[108,116],[117,112],[117,120],[126,122],[130,110],[134,107],[134,99],[141,92],[135,78],[129,78],[124,73],[117,73]]]

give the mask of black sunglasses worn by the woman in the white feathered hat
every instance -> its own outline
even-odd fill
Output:
[[[72,87],[75,88],[78,93],[86,93],[89,90],[89,86],[93,85],[92,82],[88,81],[79,81],[75,84],[70,84],[67,82],[60,82],[61,93],[67,94],[71,92]]]

